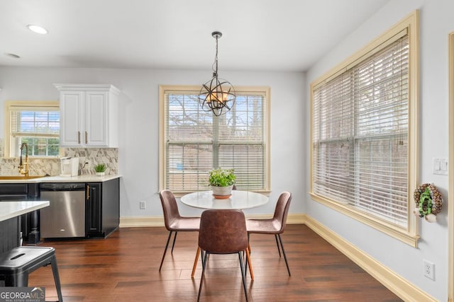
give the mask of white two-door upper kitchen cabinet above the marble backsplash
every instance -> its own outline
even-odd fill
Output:
[[[54,85],[60,91],[60,146],[118,147],[118,88]]]

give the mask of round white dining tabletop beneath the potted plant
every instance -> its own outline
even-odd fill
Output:
[[[232,190],[231,197],[216,199],[213,191],[199,191],[182,196],[181,201],[199,209],[251,209],[267,204],[268,197],[250,191]]]

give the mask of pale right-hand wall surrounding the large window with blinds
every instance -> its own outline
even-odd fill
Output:
[[[321,59],[306,74],[309,83],[341,63],[362,46],[395,23],[420,10],[420,116],[419,183],[433,182],[443,194],[444,209],[437,223],[419,221],[418,248],[375,231],[369,226],[328,209],[306,195],[307,214],[356,245],[378,262],[431,294],[438,301],[448,300],[448,176],[433,175],[432,158],[448,158],[448,33],[454,30],[454,1],[389,1],[358,30]],[[309,122],[305,124],[309,142]],[[306,158],[309,162],[309,157]],[[309,171],[306,171],[309,180]],[[309,182],[306,182],[309,188]],[[435,263],[436,280],[423,277],[423,259]]]

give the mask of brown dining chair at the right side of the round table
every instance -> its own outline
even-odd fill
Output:
[[[284,255],[285,265],[287,265],[287,272],[290,274],[289,263],[287,262],[287,255],[285,255],[284,245],[282,244],[281,234],[284,233],[285,224],[287,223],[287,215],[289,214],[290,202],[292,201],[292,194],[289,192],[282,192],[279,199],[277,199],[275,214],[271,219],[248,219],[246,220],[246,228],[248,229],[248,237],[252,233],[257,234],[271,234],[275,236],[277,251],[279,257]],[[280,247],[279,247],[280,245]]]

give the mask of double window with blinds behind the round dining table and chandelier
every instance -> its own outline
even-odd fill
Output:
[[[269,88],[236,88],[236,102],[216,117],[200,108],[198,86],[160,86],[160,188],[209,190],[212,168],[233,168],[236,187],[267,191]]]

